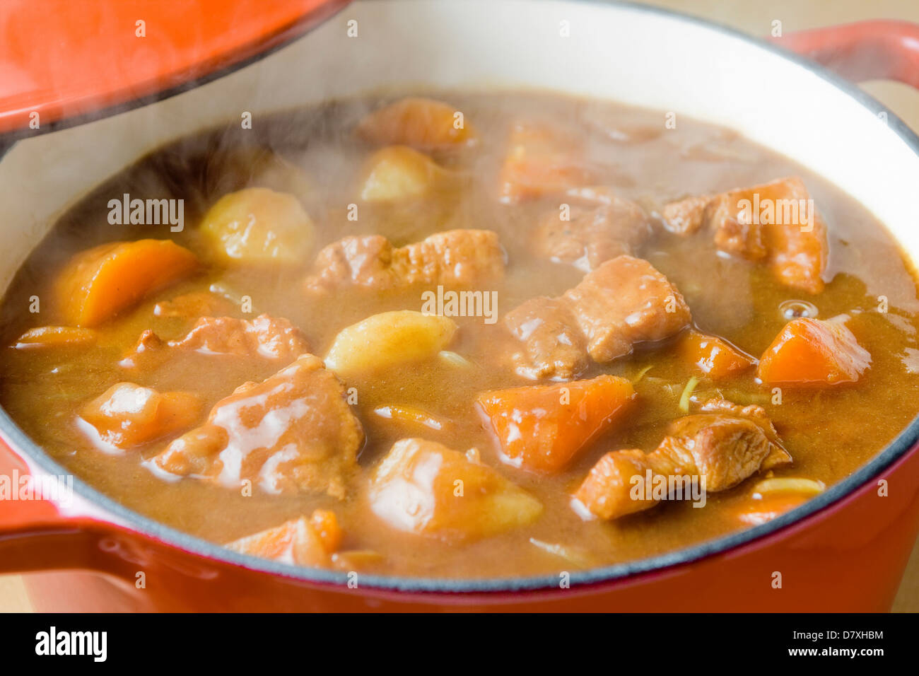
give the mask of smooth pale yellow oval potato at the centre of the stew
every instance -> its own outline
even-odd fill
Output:
[[[452,319],[414,310],[371,315],[338,333],[325,367],[346,376],[422,361],[446,348],[456,330]]]

